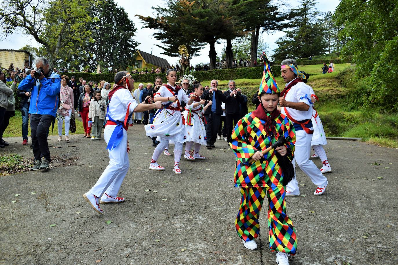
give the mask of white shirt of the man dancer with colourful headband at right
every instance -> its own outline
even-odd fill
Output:
[[[297,77],[298,78],[298,77]],[[294,79],[293,79],[294,80]],[[290,81],[289,83],[286,84],[286,87],[293,82]],[[296,110],[294,108],[288,108],[288,107],[283,107],[281,109],[281,113],[286,115],[285,108],[289,112],[290,116],[292,116],[293,119],[297,120],[298,122],[302,120],[310,120],[312,117],[312,104],[310,103],[311,101],[311,87],[309,85],[306,85],[304,82],[298,82],[296,85],[291,87],[289,92],[287,92],[285,96],[286,101],[291,101],[291,102],[304,102],[305,104],[309,105],[310,107],[308,110]]]

